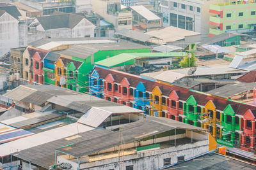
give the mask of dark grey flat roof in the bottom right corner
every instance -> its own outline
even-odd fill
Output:
[[[255,169],[255,166],[237,159],[225,157],[217,153],[210,153],[191,159],[185,162],[180,162],[170,169]]]

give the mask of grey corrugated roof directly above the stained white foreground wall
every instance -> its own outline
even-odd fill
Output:
[[[171,131],[172,129],[190,129],[192,125],[183,127],[181,122],[178,122],[178,127],[175,127],[175,125],[172,124],[175,120],[172,121],[162,121],[167,118],[144,118],[141,120],[138,120],[137,122],[132,122],[130,124],[122,125],[122,139],[124,140],[124,143],[130,143],[132,141],[137,141],[142,138],[147,138],[148,136],[153,136],[154,134],[159,134],[161,132]],[[177,121],[176,121],[177,122]],[[188,127],[188,128],[186,128]],[[207,131],[202,128],[193,128],[191,130],[202,130]],[[113,146],[117,146],[120,144],[120,132],[112,132],[104,136],[99,136],[97,138],[84,140],[79,143],[76,143],[72,146],[67,146],[60,148],[64,153],[68,153],[70,155],[75,155],[77,157],[81,157],[84,155],[88,155],[90,153],[99,152],[100,150],[104,150],[107,148],[111,148]],[[97,145],[95,145],[97,143]]]

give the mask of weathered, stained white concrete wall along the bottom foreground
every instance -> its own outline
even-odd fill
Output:
[[[208,152],[208,141],[198,141],[186,145],[173,146],[160,150],[140,152],[134,155],[122,157],[121,166],[119,167],[118,157],[105,159],[95,162],[88,162],[80,165],[80,169],[125,169],[126,166],[133,166],[133,169],[158,169],[164,166],[164,159],[170,158],[171,164],[177,163],[177,157],[184,156],[189,159]],[[90,168],[88,168],[90,167]]]

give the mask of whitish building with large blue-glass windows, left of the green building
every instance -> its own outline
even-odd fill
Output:
[[[208,34],[209,5],[214,0],[162,0],[163,26],[173,26]]]

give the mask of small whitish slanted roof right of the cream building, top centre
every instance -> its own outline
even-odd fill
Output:
[[[136,13],[140,14],[146,20],[161,20],[156,14],[152,13],[152,11],[145,8],[143,5],[130,6],[132,10],[136,11]]]

